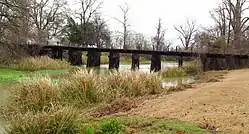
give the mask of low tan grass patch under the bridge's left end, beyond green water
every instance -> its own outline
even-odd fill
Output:
[[[26,71],[35,70],[60,70],[70,68],[70,64],[66,61],[54,60],[48,56],[27,57],[21,59],[16,64],[10,65],[11,68]]]

